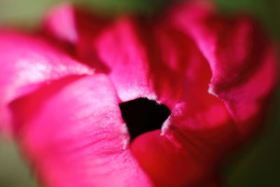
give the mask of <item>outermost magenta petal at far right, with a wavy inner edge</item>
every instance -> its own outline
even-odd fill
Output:
[[[187,3],[172,16],[211,66],[209,93],[225,102],[237,122],[258,115],[276,83],[276,55],[258,25],[246,17],[221,18],[209,2]]]

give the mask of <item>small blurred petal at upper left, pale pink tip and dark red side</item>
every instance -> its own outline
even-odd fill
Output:
[[[81,62],[97,71],[107,72],[109,69],[99,62],[92,42],[108,22],[109,20],[81,11],[71,4],[60,4],[52,8],[45,17],[43,33],[54,39],[58,46],[73,53]]]

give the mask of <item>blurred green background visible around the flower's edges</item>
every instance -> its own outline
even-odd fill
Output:
[[[75,1],[75,0],[73,0]],[[43,13],[59,0],[0,0],[0,25],[25,28],[38,26]],[[267,32],[280,43],[279,0],[216,0],[222,13],[250,12]],[[168,0],[76,0],[101,14],[138,13],[153,15]],[[280,186],[280,91],[276,91],[266,127],[223,167],[223,179],[228,187]],[[15,145],[0,139],[0,187],[36,186],[27,165]]]

